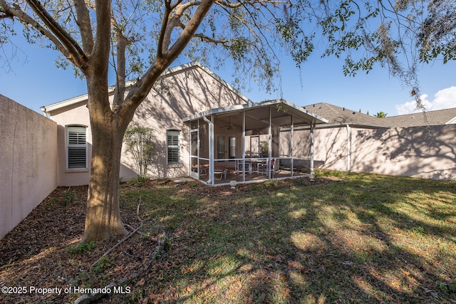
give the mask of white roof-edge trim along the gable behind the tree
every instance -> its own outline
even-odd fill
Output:
[[[229,88],[229,90],[232,90],[234,93],[239,95],[239,97],[242,98],[243,100],[245,100],[246,103],[253,103],[252,100],[249,100],[249,98],[247,98],[244,94],[240,93],[239,90],[236,90],[235,88],[233,88],[232,85],[229,85],[229,83],[227,83],[225,80],[220,78],[219,75],[215,74],[214,72],[212,72],[212,70],[209,70],[209,68],[206,68],[204,65],[202,65],[198,61],[193,61],[191,63],[185,63],[185,64],[182,64],[182,65],[177,65],[174,68],[168,68],[167,70],[165,70],[162,73],[162,77],[165,76],[165,75],[169,75],[169,74],[179,73],[182,70],[185,70],[187,68],[192,68],[192,67],[201,68],[206,73],[208,73],[213,78],[217,79],[220,83],[222,83],[222,85],[224,85],[227,88]],[[134,85],[136,83],[136,81],[137,80],[128,81],[127,83],[125,83],[125,88],[127,88],[127,90],[128,90],[128,88],[130,88],[132,85]],[[108,92],[109,93],[113,93],[114,89],[115,89],[115,85],[112,85],[112,86],[110,86],[108,88]],[[152,90],[153,90],[153,88],[152,88]],[[58,110],[58,109],[61,109],[61,108],[68,107],[69,105],[75,105],[76,103],[81,103],[81,101],[85,101],[85,100],[87,100],[87,98],[88,98],[87,94],[76,96],[74,98],[69,98],[67,100],[63,100],[63,101],[60,101],[58,103],[53,103],[51,105],[43,105],[40,108],[40,110],[43,111],[44,113],[51,112],[53,110]]]

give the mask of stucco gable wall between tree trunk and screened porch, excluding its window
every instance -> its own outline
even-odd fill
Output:
[[[246,101],[237,92],[199,66],[185,68],[162,78],[133,117],[133,123],[151,127],[157,136],[158,154],[150,169],[150,176],[170,178],[190,174],[189,126],[182,122],[182,118],[212,108],[243,103]],[[167,130],[181,131],[179,165],[167,165]],[[229,137],[229,132],[225,132]],[[237,147],[240,147],[240,144]],[[124,169],[134,169],[131,165],[133,162],[127,161],[127,158],[128,155],[124,154]],[[130,170],[131,172],[133,171]],[[126,177],[125,174],[123,176]]]

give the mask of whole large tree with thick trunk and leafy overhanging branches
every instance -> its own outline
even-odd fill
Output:
[[[93,145],[85,241],[126,233],[118,206],[123,136],[182,54],[216,68],[232,63],[238,85],[252,77],[267,91],[284,53],[301,66],[323,46],[323,56],[344,59],[346,75],[388,66],[418,102],[419,64],[456,58],[454,0],[0,0],[0,46],[18,34],[15,24],[29,43],[59,51],[58,66],[86,78]]]

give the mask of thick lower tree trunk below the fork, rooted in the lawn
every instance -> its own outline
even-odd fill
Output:
[[[131,118],[110,110],[104,88],[96,80],[88,84],[92,160],[84,242],[127,233],[120,219],[119,177],[123,135]]]

